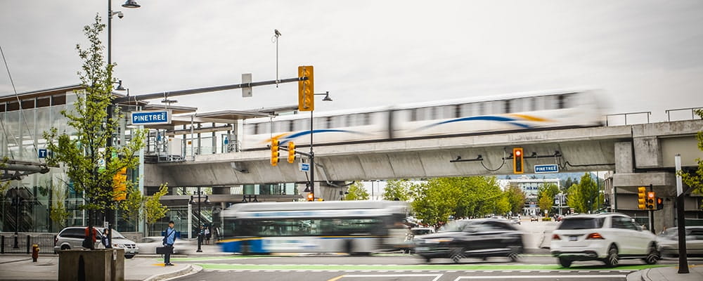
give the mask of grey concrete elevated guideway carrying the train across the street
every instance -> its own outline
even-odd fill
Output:
[[[513,147],[525,151],[529,174],[535,164],[560,164],[560,171],[615,171],[614,185],[669,185],[673,155],[684,166],[703,157],[695,133],[703,121],[689,120],[498,133],[475,136],[316,146],[318,181],[430,178],[512,173]],[[299,148],[306,150],[305,148]],[[558,156],[547,157],[555,155]],[[536,154],[539,158],[529,158]],[[197,155],[190,162],[146,164],[145,185],[229,186],[307,181],[297,164],[269,164],[269,150]],[[457,159],[482,161],[450,162]],[[284,158],[285,159],[285,158]],[[655,173],[659,171],[659,174]],[[641,172],[647,172],[642,175]]]

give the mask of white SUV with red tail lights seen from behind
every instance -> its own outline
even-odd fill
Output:
[[[617,266],[619,259],[657,263],[656,236],[617,213],[566,216],[552,233],[550,250],[565,268],[573,261],[603,261]]]

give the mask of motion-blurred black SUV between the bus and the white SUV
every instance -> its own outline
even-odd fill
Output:
[[[430,262],[449,258],[458,263],[464,258],[507,256],[517,261],[524,249],[522,233],[510,221],[471,219],[447,223],[438,233],[415,237],[415,254]]]

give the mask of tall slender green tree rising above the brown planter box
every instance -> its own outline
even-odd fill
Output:
[[[53,152],[46,162],[50,165],[65,165],[73,189],[83,197],[84,204],[81,208],[88,211],[89,227],[93,226],[94,212],[107,213],[115,208],[112,203],[112,198],[116,195],[112,189],[112,178],[117,171],[138,166],[136,153],[143,148],[145,136],[143,130],[132,130],[129,143],[119,147],[107,146],[108,139],[120,127],[118,120],[124,116],[115,107],[112,117],[108,117],[108,108],[113,98],[114,65],[106,65],[103,60],[100,35],[104,28],[101,18],[96,15],[95,22],[84,27],[90,46],[76,46],[78,55],[83,60],[78,76],[84,89],[77,92],[72,110],[61,111],[73,132],[59,132],[56,128],[44,132],[46,146]],[[127,185],[132,183],[127,181]]]

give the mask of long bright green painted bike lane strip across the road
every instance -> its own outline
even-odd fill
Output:
[[[636,265],[605,268],[601,266],[572,266],[562,268],[551,264],[491,264],[491,265],[341,265],[341,264],[226,264],[198,263],[212,270],[641,270],[671,265]]]

